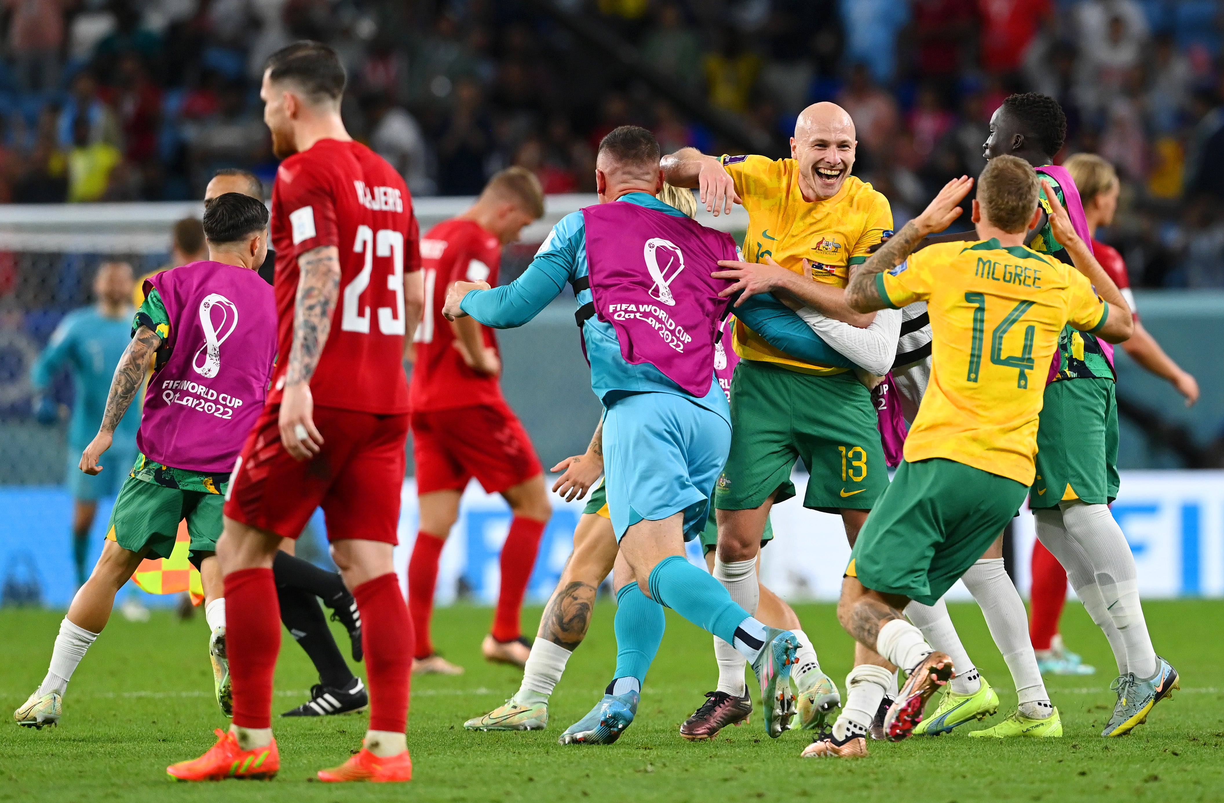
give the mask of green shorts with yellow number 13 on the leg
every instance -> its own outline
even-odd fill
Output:
[[[715,486],[720,510],[748,510],[794,496],[803,460],[803,507],[870,510],[889,487],[871,393],[853,373],[810,376],[741,360],[731,381],[731,454]]]

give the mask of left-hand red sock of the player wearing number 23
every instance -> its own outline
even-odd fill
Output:
[[[225,575],[225,651],[234,689],[234,725],[272,727],[272,676],[280,652],[280,603],[272,569],[241,569]]]

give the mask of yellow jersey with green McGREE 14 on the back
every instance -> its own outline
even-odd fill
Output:
[[[1097,331],[1109,306],[1073,267],[998,240],[942,242],[879,273],[892,307],[927,301],[931,373],[906,460],[945,458],[1033,484],[1037,419],[1059,333]]]

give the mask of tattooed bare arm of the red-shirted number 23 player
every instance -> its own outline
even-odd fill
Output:
[[[340,295],[340,251],[334,245],[311,248],[297,257],[297,267],[301,274],[294,306],[294,340],[280,399],[280,442],[295,460],[306,460],[323,446],[323,436],[315,428],[310,379],[332,332],[332,312]]]

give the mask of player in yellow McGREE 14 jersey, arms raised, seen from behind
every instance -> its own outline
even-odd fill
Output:
[[[949,182],[847,289],[848,304],[859,311],[925,299],[934,334],[930,383],[906,439],[906,459],[854,543],[837,611],[863,649],[909,671],[885,717],[890,739],[909,736],[953,670],[901,610],[909,600],[931,605],[941,597],[1023,502],[1034,475],[1043,379],[1059,333],[1070,323],[1121,342],[1132,327],[1118,288],[1073,230],[1062,230],[1070,229],[1061,226],[1065,215],[1059,237],[1067,235],[1083,273],[1023,246],[1038,223],[1039,185],[1033,168],[1016,157],[998,157],[982,173],[973,202],[978,241],[911,255],[922,237],[956,219],[972,184]],[[907,267],[894,273],[906,257]],[[1056,722],[1055,716],[1056,709],[1045,719]],[[1016,717],[1023,728],[1049,727]],[[854,743],[853,754],[864,754],[862,733],[841,730],[813,748],[840,755]]]

